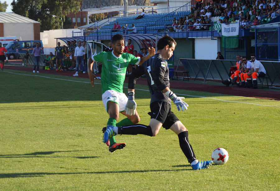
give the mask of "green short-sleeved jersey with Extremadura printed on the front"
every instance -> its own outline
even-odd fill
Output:
[[[120,57],[116,57],[113,52],[99,52],[91,58],[93,61],[102,62],[102,93],[110,89],[123,93],[127,66],[140,62],[140,57],[129,53],[123,53]]]

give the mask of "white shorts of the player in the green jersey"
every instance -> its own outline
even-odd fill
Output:
[[[119,105],[119,112],[124,111],[128,98],[124,93],[116,92],[115,90],[107,90],[102,94],[102,102],[107,111],[107,103],[109,101],[116,102]],[[108,112],[108,111],[107,111]]]

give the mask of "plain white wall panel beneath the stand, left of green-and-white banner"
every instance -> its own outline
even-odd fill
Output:
[[[211,40],[211,38],[194,39],[194,57],[195,59],[212,59],[215,60],[217,52],[221,50],[221,40]]]

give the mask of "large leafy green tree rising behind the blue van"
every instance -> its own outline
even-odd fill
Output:
[[[12,11],[40,22],[41,31],[61,29],[61,19],[80,10],[82,0],[13,0]],[[53,15],[58,17],[53,17]]]

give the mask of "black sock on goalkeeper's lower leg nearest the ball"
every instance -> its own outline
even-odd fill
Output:
[[[192,163],[195,160],[195,155],[194,155],[194,150],[192,148],[192,145],[189,144],[188,136],[189,136],[188,131],[184,131],[178,134],[180,147],[184,152],[185,156],[187,157],[189,163]]]

